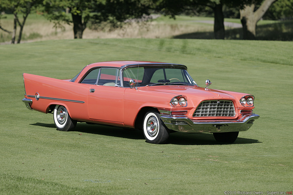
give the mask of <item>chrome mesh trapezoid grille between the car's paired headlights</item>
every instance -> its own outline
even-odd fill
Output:
[[[235,116],[233,102],[226,100],[202,101],[193,113],[193,117],[208,116]]]

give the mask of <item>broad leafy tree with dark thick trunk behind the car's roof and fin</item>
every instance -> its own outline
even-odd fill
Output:
[[[126,19],[149,15],[151,5],[146,0],[44,0],[44,4],[45,16],[56,26],[62,22],[73,23],[75,39],[82,38],[88,23],[97,30],[103,28],[103,23],[119,27]],[[66,8],[71,18],[65,14]]]

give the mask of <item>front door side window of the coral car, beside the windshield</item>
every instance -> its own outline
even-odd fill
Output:
[[[118,68],[101,68],[98,85],[121,86],[120,69]]]

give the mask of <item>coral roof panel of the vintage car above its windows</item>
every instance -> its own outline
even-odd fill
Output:
[[[151,61],[108,61],[108,62],[97,62],[97,63],[89,64],[89,65],[87,65],[87,69],[91,69],[91,68],[94,68],[97,66],[125,68],[125,67],[131,66],[131,65],[181,65],[181,66],[185,66],[182,64],[151,62]]]

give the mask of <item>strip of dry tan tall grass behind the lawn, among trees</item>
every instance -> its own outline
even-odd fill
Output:
[[[51,39],[73,39],[73,26],[64,24],[63,28],[55,28],[54,24],[44,18],[29,20],[28,18],[23,28],[22,42],[51,40]],[[12,31],[12,18],[7,18],[1,21],[1,25]],[[84,39],[93,38],[171,38],[176,35],[192,33],[192,32],[207,32],[213,31],[212,24],[196,23],[190,21],[178,21],[177,23],[163,23],[151,21],[148,23],[130,23],[125,24],[122,28],[109,31],[94,31],[86,28],[84,30]],[[2,36],[7,33],[0,32]],[[30,34],[38,34],[33,40],[28,40]],[[18,32],[17,32],[18,34]],[[6,40],[9,43],[9,39]]]

